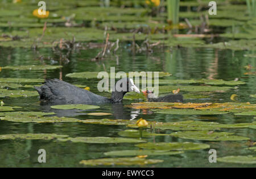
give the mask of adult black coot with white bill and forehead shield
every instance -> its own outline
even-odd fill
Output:
[[[85,104],[98,102],[121,103],[123,101],[123,96],[127,92],[135,91],[139,93],[139,89],[134,85],[133,79],[131,78],[122,78],[121,80],[118,80],[112,90],[111,98],[94,94],[91,91],[78,88],[77,86],[58,79],[46,80],[43,86],[35,86],[35,89],[38,91],[40,99],[43,101],[61,104]]]

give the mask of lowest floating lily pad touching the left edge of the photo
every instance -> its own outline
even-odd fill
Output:
[[[68,135],[58,135],[58,134],[5,134],[0,135],[0,140],[4,139],[26,139],[26,140],[51,140],[57,138],[67,138]]]

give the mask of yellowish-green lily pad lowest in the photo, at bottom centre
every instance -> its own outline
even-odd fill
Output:
[[[156,159],[144,159],[139,157],[121,157],[121,158],[104,158],[104,159],[93,159],[93,160],[82,160],[80,164],[84,165],[147,165],[162,163],[163,160]]]

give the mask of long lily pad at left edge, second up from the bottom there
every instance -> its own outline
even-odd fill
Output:
[[[1,114],[1,113],[0,113]],[[34,123],[55,123],[55,122],[79,122],[79,119],[65,118],[65,117],[45,117],[45,116],[4,116],[1,120],[8,120],[11,122],[34,122]]]

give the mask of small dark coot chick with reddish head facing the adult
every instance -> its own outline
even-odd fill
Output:
[[[148,102],[183,102],[183,95],[181,94],[168,94],[156,98],[153,91],[142,91],[146,95]]]

